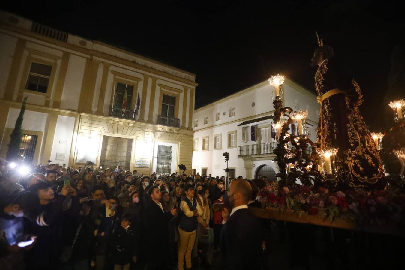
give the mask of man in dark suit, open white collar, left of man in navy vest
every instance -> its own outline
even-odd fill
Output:
[[[162,203],[160,203],[162,193],[160,193],[160,188],[157,185],[149,189],[149,196],[151,196],[151,202],[149,202],[145,213],[147,235],[145,246],[150,257],[146,269],[166,269],[170,263],[167,252],[169,250],[168,222],[177,213],[177,209],[173,208],[168,212],[163,210]],[[163,252],[156,253],[157,248]],[[153,256],[154,254],[156,256]]]

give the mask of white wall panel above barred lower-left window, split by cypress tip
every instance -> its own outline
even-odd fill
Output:
[[[15,121],[20,114],[20,109],[10,108],[9,117],[7,117],[6,128],[14,128]],[[23,130],[35,130],[45,131],[45,125],[47,123],[47,113],[38,113],[34,111],[25,111],[22,129]]]

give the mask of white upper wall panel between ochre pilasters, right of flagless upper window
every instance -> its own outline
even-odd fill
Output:
[[[69,57],[68,70],[66,71],[65,84],[63,86],[60,108],[77,111],[79,108],[79,98],[83,83],[86,59],[71,54]],[[92,103],[89,103],[89,106]]]

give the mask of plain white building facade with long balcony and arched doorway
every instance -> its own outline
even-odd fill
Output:
[[[307,129],[315,142],[319,119],[316,95],[289,79],[283,90],[283,106],[308,110]],[[277,143],[271,136],[271,91],[264,81],[194,111],[194,172],[225,176],[223,153],[229,153],[230,177],[275,179],[278,168],[273,149]]]

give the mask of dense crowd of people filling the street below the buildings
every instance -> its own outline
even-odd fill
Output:
[[[0,165],[0,269],[264,269],[266,179]]]

